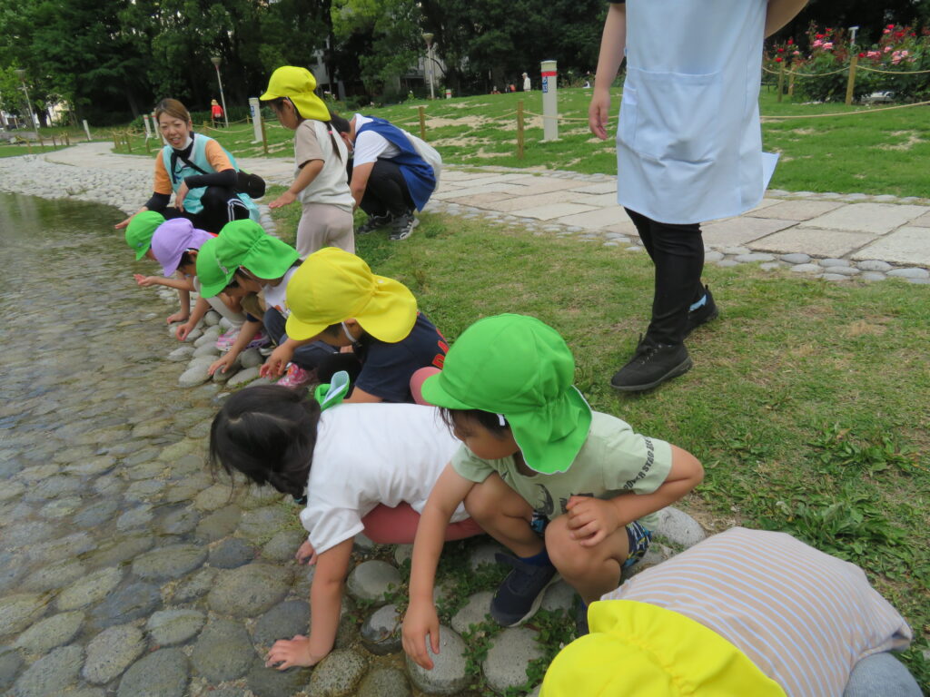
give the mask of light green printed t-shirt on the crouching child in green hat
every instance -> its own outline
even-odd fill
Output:
[[[594,412],[588,438],[565,472],[527,477],[517,470],[512,455],[483,460],[464,444],[452,456],[452,467],[479,483],[497,472],[539,515],[553,519],[565,513],[573,495],[611,499],[625,492],[656,491],[671,470],[671,445],[634,433],[616,416]],[[654,530],[658,516],[650,513],[640,522]]]

